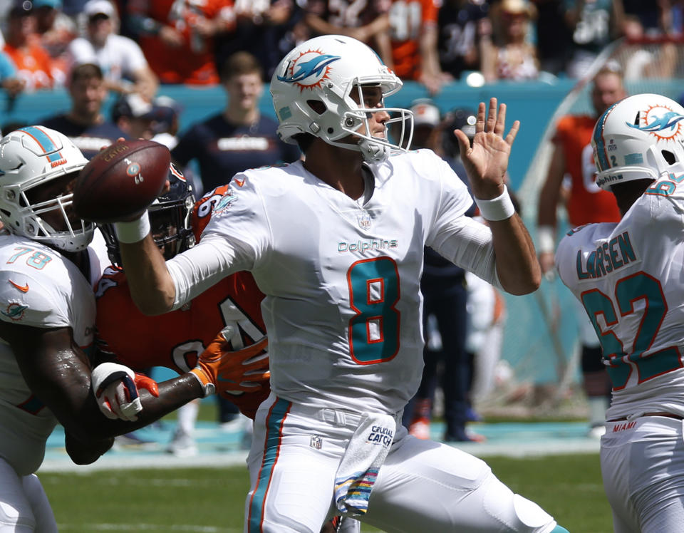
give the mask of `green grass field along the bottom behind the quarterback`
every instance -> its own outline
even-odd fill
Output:
[[[598,455],[487,462],[512,490],[539,503],[571,533],[612,531]],[[39,475],[61,532],[242,532],[248,490],[243,467]]]

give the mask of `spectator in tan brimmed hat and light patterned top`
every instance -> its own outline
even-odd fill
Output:
[[[492,43],[484,41],[484,79],[489,82],[537,79],[537,49],[530,40],[534,6],[527,0],[502,0],[497,15]]]

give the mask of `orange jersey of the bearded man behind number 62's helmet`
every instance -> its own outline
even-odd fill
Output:
[[[591,133],[596,120],[588,115],[565,116],[556,125],[554,143],[563,149],[572,188],[567,210],[571,226],[618,222],[620,211],[611,192],[596,185]]]

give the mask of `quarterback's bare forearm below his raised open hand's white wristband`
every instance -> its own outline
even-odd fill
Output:
[[[537,252],[527,228],[518,214],[489,221],[492,229],[497,275],[503,289],[510,294],[529,294],[539,288],[541,269]]]

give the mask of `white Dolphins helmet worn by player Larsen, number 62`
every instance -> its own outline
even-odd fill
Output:
[[[657,180],[684,166],[684,108],[663,95],[637,94],[611,105],[591,136],[596,185]]]

